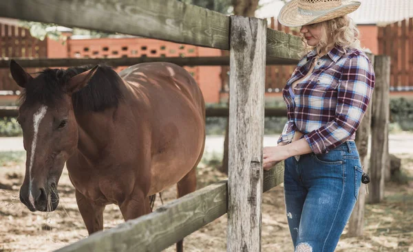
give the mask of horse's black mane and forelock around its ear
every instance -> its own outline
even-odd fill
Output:
[[[30,106],[39,102],[46,106],[56,106],[66,93],[67,81],[94,66],[73,67],[70,69],[45,69],[31,80],[21,93],[21,104]],[[122,79],[111,67],[99,65],[89,84],[72,95],[75,110],[103,111],[116,107],[123,98],[120,91]]]

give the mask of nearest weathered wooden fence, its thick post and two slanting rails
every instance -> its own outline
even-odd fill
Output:
[[[226,212],[229,250],[260,251],[261,195],[283,181],[282,165],[262,170],[264,60],[297,60],[297,36],[266,28],[260,19],[229,17],[175,0],[2,0],[0,16],[230,50],[229,182],[205,187],[59,251],[160,251]]]

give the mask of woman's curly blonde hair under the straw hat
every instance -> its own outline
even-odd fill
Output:
[[[322,27],[322,36],[315,47],[309,47],[305,43],[304,34],[301,34],[301,40],[306,45],[306,52],[314,48],[317,48],[317,52],[320,52],[324,49],[332,49],[335,45],[342,47],[345,51],[348,49],[362,50],[359,40],[359,29],[357,29],[350,17],[339,16],[315,25],[321,25]]]

